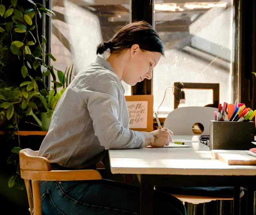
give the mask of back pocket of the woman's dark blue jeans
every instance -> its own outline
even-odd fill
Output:
[[[41,196],[41,202],[42,202],[43,215],[50,215],[50,214],[65,215],[64,213],[61,212],[61,210],[59,210],[59,208],[54,203],[49,190],[47,190]]]

